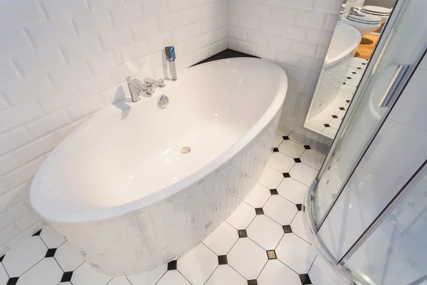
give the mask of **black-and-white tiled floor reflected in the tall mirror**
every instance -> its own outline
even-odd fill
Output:
[[[337,98],[322,113],[307,120],[304,124],[305,128],[314,130],[316,133],[325,135],[328,138],[335,137],[367,64],[368,61],[366,59],[352,58],[347,78]]]

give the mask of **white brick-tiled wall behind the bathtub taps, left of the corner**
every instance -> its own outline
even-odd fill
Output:
[[[125,78],[163,78],[227,48],[227,0],[0,2],[0,255],[43,226],[28,199],[46,155]]]

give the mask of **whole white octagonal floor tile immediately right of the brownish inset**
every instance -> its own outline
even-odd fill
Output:
[[[292,233],[283,236],[275,251],[278,259],[297,274],[307,274],[316,257],[312,246]]]

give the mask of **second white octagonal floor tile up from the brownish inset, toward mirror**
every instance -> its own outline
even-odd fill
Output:
[[[275,222],[282,226],[286,226],[292,222],[292,219],[297,214],[297,206],[280,195],[272,195],[263,207],[264,214],[266,214]]]

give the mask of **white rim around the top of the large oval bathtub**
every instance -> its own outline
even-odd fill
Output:
[[[167,199],[167,197],[170,197],[180,190],[185,189],[186,187],[189,187],[193,185],[194,183],[198,182],[199,180],[206,177],[206,175],[209,175],[209,173],[214,172],[218,167],[226,163],[228,160],[230,160],[231,157],[234,157],[238,154],[241,150],[243,150],[246,145],[248,145],[259,133],[263,128],[265,128],[266,125],[270,122],[270,120],[273,120],[274,116],[278,111],[280,111],[280,108],[282,107],[285,96],[288,90],[288,76],[276,63],[272,63],[270,61],[265,61],[261,58],[226,58],[218,61],[211,61],[209,63],[204,63],[199,66],[189,67],[184,69],[184,71],[181,71],[181,78],[184,78],[189,75],[189,73],[193,72],[194,69],[199,69],[200,67],[207,66],[207,65],[214,65],[218,62],[222,61],[262,61],[263,64],[267,63],[271,66],[271,68],[276,69],[276,72],[280,72],[280,77],[282,78],[280,84],[278,85],[278,89],[276,90],[276,94],[270,103],[268,105],[268,108],[265,110],[265,113],[260,116],[260,118],[254,123],[251,128],[249,128],[248,132],[245,133],[236,143],[231,145],[226,151],[224,151],[221,155],[216,157],[215,160],[212,162],[209,162],[204,167],[201,167],[196,172],[191,173],[191,175],[185,177],[182,180],[179,180],[178,182],[169,185],[169,187],[166,187],[162,190],[159,190],[157,192],[153,192],[147,196],[141,197],[139,199],[136,199],[132,202],[127,202],[126,204],[121,204],[114,207],[108,207],[108,208],[102,208],[102,209],[90,209],[85,211],[58,211],[57,208],[53,209],[47,209],[45,207],[46,199],[36,199],[33,197],[36,197],[38,195],[38,185],[35,184],[35,180],[40,179],[40,175],[42,175],[43,172],[39,172],[41,168],[43,167],[43,164],[41,167],[38,168],[38,171],[36,172],[36,175],[33,178],[33,182],[31,182],[30,187],[30,201],[31,205],[33,206],[33,209],[36,210],[36,212],[43,217],[48,222],[53,223],[65,223],[65,224],[75,224],[75,223],[82,223],[82,222],[97,222],[100,220],[105,219],[115,219],[116,217],[120,217],[124,214],[134,212],[137,209],[141,209],[142,207],[147,207],[151,204],[154,204],[156,202],[159,202],[162,199]],[[254,63],[251,64],[251,68],[253,68]],[[171,87],[173,88],[173,86]],[[168,88],[169,89],[169,88]],[[153,98],[149,98],[147,100],[150,100]],[[139,102],[132,103],[132,104],[144,104],[147,102],[147,100],[140,100]],[[129,99],[122,100],[113,106],[117,108],[117,106],[120,106],[121,108],[129,108],[126,104],[129,103]],[[90,123],[93,122],[93,120],[97,120],[99,118],[102,118],[102,116],[106,115],[107,113],[111,112],[110,108],[112,105],[109,105],[107,108],[103,108],[99,112],[95,113],[90,117],[88,120],[85,121],[82,125],[80,125],[76,130],[73,131],[69,136],[77,135],[80,133],[80,130],[87,128]],[[63,140],[65,141],[66,138]],[[60,142],[58,146],[60,146],[63,142]],[[57,147],[58,147],[57,146]],[[44,163],[44,162],[43,162]],[[36,200],[36,201],[35,201]]]

